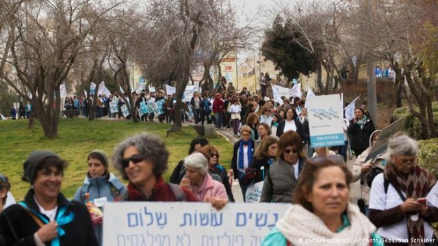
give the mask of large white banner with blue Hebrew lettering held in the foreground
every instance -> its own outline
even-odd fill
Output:
[[[289,204],[106,203],[103,245],[260,245]],[[114,226],[117,225],[117,226]]]

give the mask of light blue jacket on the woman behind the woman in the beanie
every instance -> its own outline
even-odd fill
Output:
[[[110,174],[110,178],[107,176],[88,178],[88,176],[86,176],[85,180],[83,180],[82,186],[77,189],[73,200],[85,203],[85,193],[88,192],[90,193],[90,202],[101,197],[107,197],[107,202],[112,202],[114,198],[126,191],[127,189],[125,185],[122,184],[114,174]],[[102,245],[103,226],[94,226],[94,232],[96,233],[99,245]]]

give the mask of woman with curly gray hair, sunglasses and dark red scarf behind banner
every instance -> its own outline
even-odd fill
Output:
[[[195,195],[177,184],[164,181],[169,152],[164,142],[150,133],[129,137],[114,149],[113,163],[125,180],[129,180],[127,201],[197,202]]]

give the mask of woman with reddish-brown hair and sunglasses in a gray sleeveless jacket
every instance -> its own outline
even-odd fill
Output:
[[[291,203],[294,187],[306,156],[302,150],[300,135],[287,131],[281,135],[276,152],[276,161],[270,165],[260,202]]]

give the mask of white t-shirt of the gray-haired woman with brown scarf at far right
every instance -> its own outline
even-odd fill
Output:
[[[387,210],[394,208],[403,203],[402,198],[398,195],[396,189],[389,184],[388,191],[385,194],[385,184],[384,184],[383,174],[378,174],[376,178],[372,181],[371,193],[370,193],[370,209],[376,210]],[[406,193],[402,191],[404,197]],[[426,239],[432,239],[433,229],[427,221],[424,224],[424,237]],[[398,239],[402,238],[408,239],[408,228],[406,219],[391,225],[378,228],[377,233],[384,238],[394,239],[394,241],[400,241]],[[405,241],[406,242],[406,241]]]

